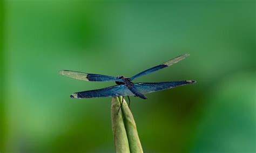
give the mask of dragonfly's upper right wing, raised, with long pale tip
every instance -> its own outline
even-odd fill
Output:
[[[173,64],[176,64],[176,62],[179,62],[180,60],[185,59],[188,55],[190,55],[190,54],[180,55],[179,57],[176,57],[176,58],[174,58],[174,59],[171,59],[171,60],[169,60],[169,61],[166,61],[166,62],[164,62],[163,64],[160,64],[160,65],[158,65],[158,66],[154,66],[154,67],[152,67],[152,68],[146,69],[145,71],[140,72],[140,73],[134,75],[134,76],[131,78],[131,80],[136,79],[136,78],[138,78],[138,77],[141,77],[142,75],[145,75],[145,74],[148,74],[148,73],[152,73],[152,72],[157,71],[157,70],[159,70],[159,69],[162,69],[162,68],[171,66],[171,65],[173,65]]]

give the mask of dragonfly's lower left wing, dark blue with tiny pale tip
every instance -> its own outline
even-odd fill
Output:
[[[125,85],[111,86],[92,91],[77,92],[70,95],[71,98],[96,98],[107,96],[134,95]]]

